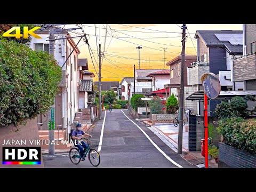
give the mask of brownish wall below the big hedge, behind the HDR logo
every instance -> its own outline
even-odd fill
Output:
[[[11,140],[14,139],[15,141],[17,140],[26,140],[26,147],[40,147],[39,145],[31,145],[29,142],[30,140],[37,140],[39,139],[38,136],[38,130],[37,130],[37,118],[34,119],[28,119],[26,125],[18,125],[18,130],[16,131],[17,128],[14,127],[13,125],[9,125],[6,127],[0,127],[0,145],[2,147],[22,147],[24,145],[3,145],[4,139],[5,141],[7,139]],[[20,142],[21,143],[21,142]],[[19,168],[28,168],[28,167],[44,167],[44,162],[43,162],[43,157],[41,153],[41,165],[3,165],[3,148],[0,147],[0,168],[10,168],[10,167],[19,167]],[[25,147],[25,146],[24,146]]]

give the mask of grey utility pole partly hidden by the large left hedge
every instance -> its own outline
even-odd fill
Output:
[[[52,58],[54,59],[54,45],[55,45],[55,37],[54,37],[54,26],[51,25],[49,30],[50,36],[49,36],[49,53],[52,55]],[[55,103],[55,101],[54,101]],[[51,114],[51,115],[50,115]],[[49,155],[55,154],[55,145],[54,145],[54,132],[55,132],[55,124],[54,124],[54,104],[51,107],[51,110],[49,111]]]

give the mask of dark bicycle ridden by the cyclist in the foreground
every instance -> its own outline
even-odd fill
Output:
[[[84,156],[81,156],[80,150],[78,149],[78,147],[72,146],[71,149],[69,150],[70,161],[73,164],[77,165],[78,163],[80,163],[81,158],[85,158],[87,153],[89,153],[88,158],[89,158],[90,163],[93,166],[98,166],[100,164],[100,154],[99,154],[99,152],[90,147],[90,145],[91,145],[90,139],[85,139],[85,138],[82,138],[82,139],[86,140],[87,145],[88,145],[88,147],[84,151]]]

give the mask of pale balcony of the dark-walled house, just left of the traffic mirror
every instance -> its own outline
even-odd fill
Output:
[[[202,83],[203,74],[210,72],[210,66],[207,62],[197,61],[191,63],[191,67],[188,67],[187,70],[188,85],[197,85]]]

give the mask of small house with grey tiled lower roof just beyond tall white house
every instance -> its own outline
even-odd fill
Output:
[[[81,109],[90,107],[87,105],[87,102],[91,102],[91,99],[94,98],[92,78],[95,77],[95,75],[92,72],[87,71],[89,70],[87,59],[78,59],[78,61],[80,72],[78,108]]]

